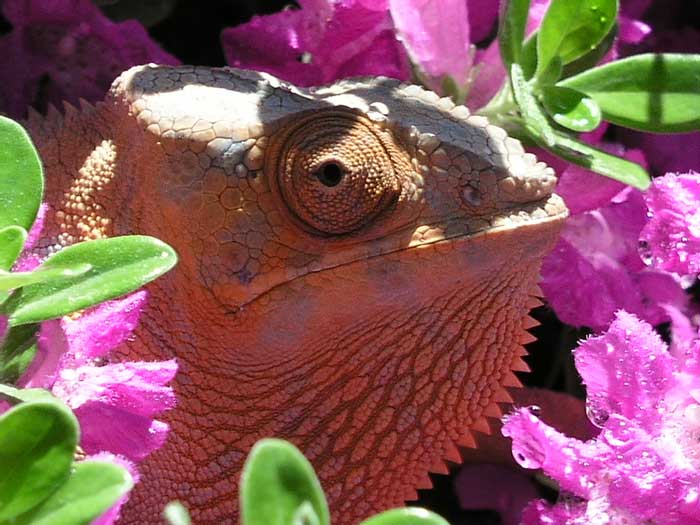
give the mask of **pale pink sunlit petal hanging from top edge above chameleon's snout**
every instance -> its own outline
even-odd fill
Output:
[[[439,88],[443,77],[466,86],[471,68],[469,19],[464,0],[390,0],[391,17],[406,50]]]

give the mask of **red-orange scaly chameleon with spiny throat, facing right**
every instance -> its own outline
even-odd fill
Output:
[[[552,169],[465,107],[386,78],[148,65],[28,127],[43,250],[142,233],[180,256],[119,356],[180,364],[122,523],[171,499],[236,523],[265,436],[311,460],[334,524],[357,523],[430,487],[519,385],[566,208]]]

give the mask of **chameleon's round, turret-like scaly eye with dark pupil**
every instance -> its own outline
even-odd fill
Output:
[[[380,133],[354,113],[329,110],[278,135],[274,177],[290,211],[315,232],[330,235],[353,232],[377,217],[399,191]]]

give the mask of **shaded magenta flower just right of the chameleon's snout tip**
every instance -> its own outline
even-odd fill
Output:
[[[640,191],[576,166],[564,170],[557,191],[572,215],[544,260],[541,287],[559,319],[603,330],[620,309],[652,324],[668,320],[666,305],[686,309],[678,277],[639,255],[649,220]]]

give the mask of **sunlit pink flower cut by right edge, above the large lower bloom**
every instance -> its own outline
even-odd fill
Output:
[[[700,273],[700,173],[654,179],[644,200],[651,218],[640,239],[651,264],[682,275]]]

